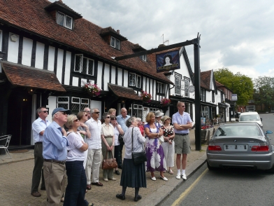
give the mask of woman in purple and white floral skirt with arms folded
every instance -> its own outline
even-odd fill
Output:
[[[159,128],[155,123],[155,115],[153,112],[147,114],[147,124],[144,125],[146,136],[146,155],[147,155],[147,170],[151,173],[151,179],[156,180],[154,171],[160,172],[160,178],[164,181],[168,181],[164,177],[164,171],[166,170],[166,160],[164,158],[164,150],[159,142],[159,137],[163,135],[163,130]]]

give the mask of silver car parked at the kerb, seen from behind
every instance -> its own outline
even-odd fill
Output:
[[[274,172],[274,146],[257,123],[220,125],[206,151],[208,169],[247,167]]]

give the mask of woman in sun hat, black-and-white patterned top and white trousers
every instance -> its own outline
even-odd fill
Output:
[[[166,159],[166,166],[168,167],[168,173],[173,174],[171,167],[174,167],[174,137],[175,133],[173,131],[173,126],[171,125],[171,118],[169,116],[164,116],[164,125],[161,125],[161,129],[164,132],[164,142],[161,143],[164,149],[164,157]]]

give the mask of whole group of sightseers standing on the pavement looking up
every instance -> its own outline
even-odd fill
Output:
[[[103,181],[115,181],[113,174],[121,175],[122,193],[116,195],[120,200],[125,200],[127,187],[135,188],[134,201],[142,198],[139,189],[147,187],[145,172],[150,172],[152,181],[157,180],[154,172],[168,181],[164,173],[173,174],[175,153],[176,178],[187,179],[192,119],[185,112],[184,102],[178,102],[177,108],[172,118],[161,111],[150,112],[143,123],[127,115],[126,108],[118,116],[115,109],[109,109],[99,120],[96,108],[85,108],[75,115],[59,107],[52,111],[50,123],[46,120],[48,109],[39,107],[32,125],[35,146],[31,195],[41,196],[38,186],[42,179],[40,189],[46,190],[47,205],[93,205],[85,200],[85,193],[92,185],[103,186],[99,181],[102,158],[117,160],[116,168],[103,170]],[[134,164],[132,153],[144,150],[147,161]]]

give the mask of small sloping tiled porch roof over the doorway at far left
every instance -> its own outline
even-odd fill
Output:
[[[13,85],[66,92],[53,71],[35,69],[6,61],[1,64],[8,81]]]

